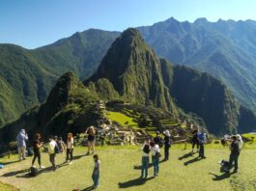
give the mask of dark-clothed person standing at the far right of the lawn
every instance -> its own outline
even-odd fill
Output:
[[[234,173],[238,173],[239,170],[239,156],[242,148],[242,142],[239,141],[240,137],[239,136],[232,136],[232,143],[230,146],[230,156],[229,156],[229,170],[232,169],[232,164],[235,162],[235,170]]]

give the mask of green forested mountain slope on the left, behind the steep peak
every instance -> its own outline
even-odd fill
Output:
[[[0,127],[45,101],[63,73],[90,76],[117,35],[90,29],[34,50],[0,44]]]

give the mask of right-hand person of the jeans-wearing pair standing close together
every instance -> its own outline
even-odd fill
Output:
[[[152,163],[154,166],[154,177],[157,177],[159,172],[160,149],[159,149],[159,146],[156,145],[154,142],[151,142],[150,146],[151,146],[151,152],[152,152]]]

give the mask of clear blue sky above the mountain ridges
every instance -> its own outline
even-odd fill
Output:
[[[123,31],[171,16],[256,20],[254,0],[0,0],[0,43],[35,48],[99,28]]]

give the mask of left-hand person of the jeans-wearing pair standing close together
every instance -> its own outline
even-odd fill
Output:
[[[149,163],[150,163],[150,140],[147,138],[145,140],[145,143],[143,144],[141,150],[142,150],[142,159],[141,159],[141,178],[144,177],[145,172],[145,178],[148,177],[148,169],[149,169]]]

